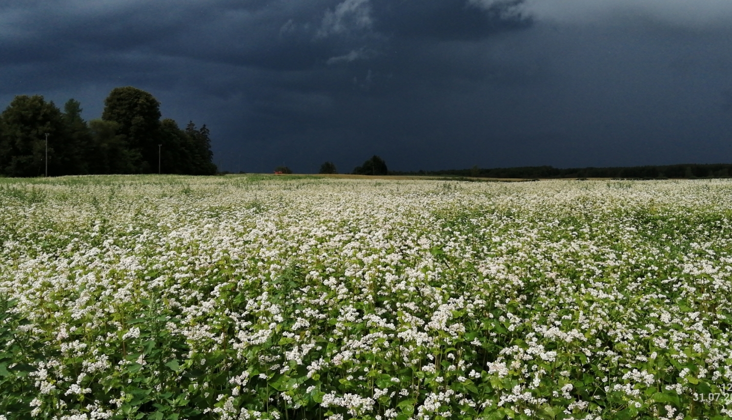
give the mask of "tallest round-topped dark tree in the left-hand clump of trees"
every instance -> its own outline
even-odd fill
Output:
[[[157,145],[160,144],[160,102],[149,92],[132,86],[112,89],[104,101],[102,119],[119,124],[119,133],[141,161],[138,172],[157,172]]]

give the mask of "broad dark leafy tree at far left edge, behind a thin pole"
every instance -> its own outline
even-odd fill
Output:
[[[49,133],[48,173],[59,174],[68,139],[61,110],[53,102],[41,95],[16,96],[0,121],[0,173],[10,177],[44,174],[45,133]]]

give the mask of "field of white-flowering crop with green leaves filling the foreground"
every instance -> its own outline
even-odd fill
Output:
[[[0,420],[732,415],[728,180],[4,179],[0,246]]]

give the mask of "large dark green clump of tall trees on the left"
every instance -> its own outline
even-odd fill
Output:
[[[61,111],[42,95],[16,96],[0,114],[0,176],[37,177],[47,165],[49,176],[216,173],[205,124],[161,121],[160,102],[132,86],[112,89],[104,104],[87,122],[78,100]]]

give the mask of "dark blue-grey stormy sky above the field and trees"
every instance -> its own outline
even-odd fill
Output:
[[[732,162],[729,0],[0,0],[0,106],[116,86],[230,171]]]

